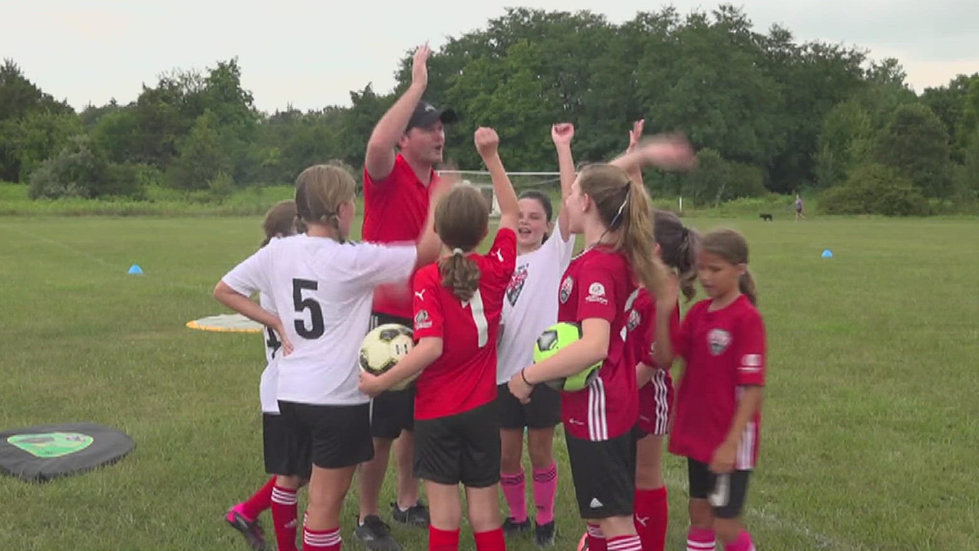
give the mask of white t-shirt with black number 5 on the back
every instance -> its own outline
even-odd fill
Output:
[[[337,406],[370,401],[357,382],[374,287],[407,281],[416,258],[413,244],[341,244],[302,234],[272,241],[224,275],[237,292],[269,295],[279,311],[293,343],[293,353],[278,359],[279,400]]]

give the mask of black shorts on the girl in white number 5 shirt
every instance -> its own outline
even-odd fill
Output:
[[[303,465],[343,469],[374,457],[370,404],[320,406],[280,400],[279,412],[289,436],[297,442],[297,460]]]

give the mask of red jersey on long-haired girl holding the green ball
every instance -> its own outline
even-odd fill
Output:
[[[632,285],[629,261],[620,253],[594,248],[573,260],[558,291],[558,322],[591,318],[610,325],[608,356],[584,390],[561,393],[561,419],[577,438],[601,441],[625,434],[638,417],[635,364],[626,354],[626,301]]]

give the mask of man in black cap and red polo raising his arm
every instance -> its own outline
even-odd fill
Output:
[[[428,45],[415,52],[411,86],[374,127],[364,159],[364,241],[415,241],[429,208],[429,193],[438,179],[445,131],[455,122],[451,110],[422,100],[428,85]],[[396,149],[399,153],[396,153]],[[371,327],[414,326],[409,285],[379,288],[374,293]],[[398,523],[429,525],[428,508],[418,498],[412,475],[414,456],[414,390],[388,391],[371,402],[374,459],[360,466],[360,518],[354,534],[372,551],[401,549],[380,518],[381,485],[388,469],[392,442],[397,466],[397,501],[392,517]]]

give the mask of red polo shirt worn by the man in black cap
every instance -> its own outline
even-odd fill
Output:
[[[431,184],[438,177],[433,171],[431,183],[425,185],[400,153],[395,157],[391,174],[382,180],[374,181],[365,168],[361,239],[375,243],[416,241],[428,216]],[[378,287],[374,291],[373,311],[410,320],[409,286]]]

